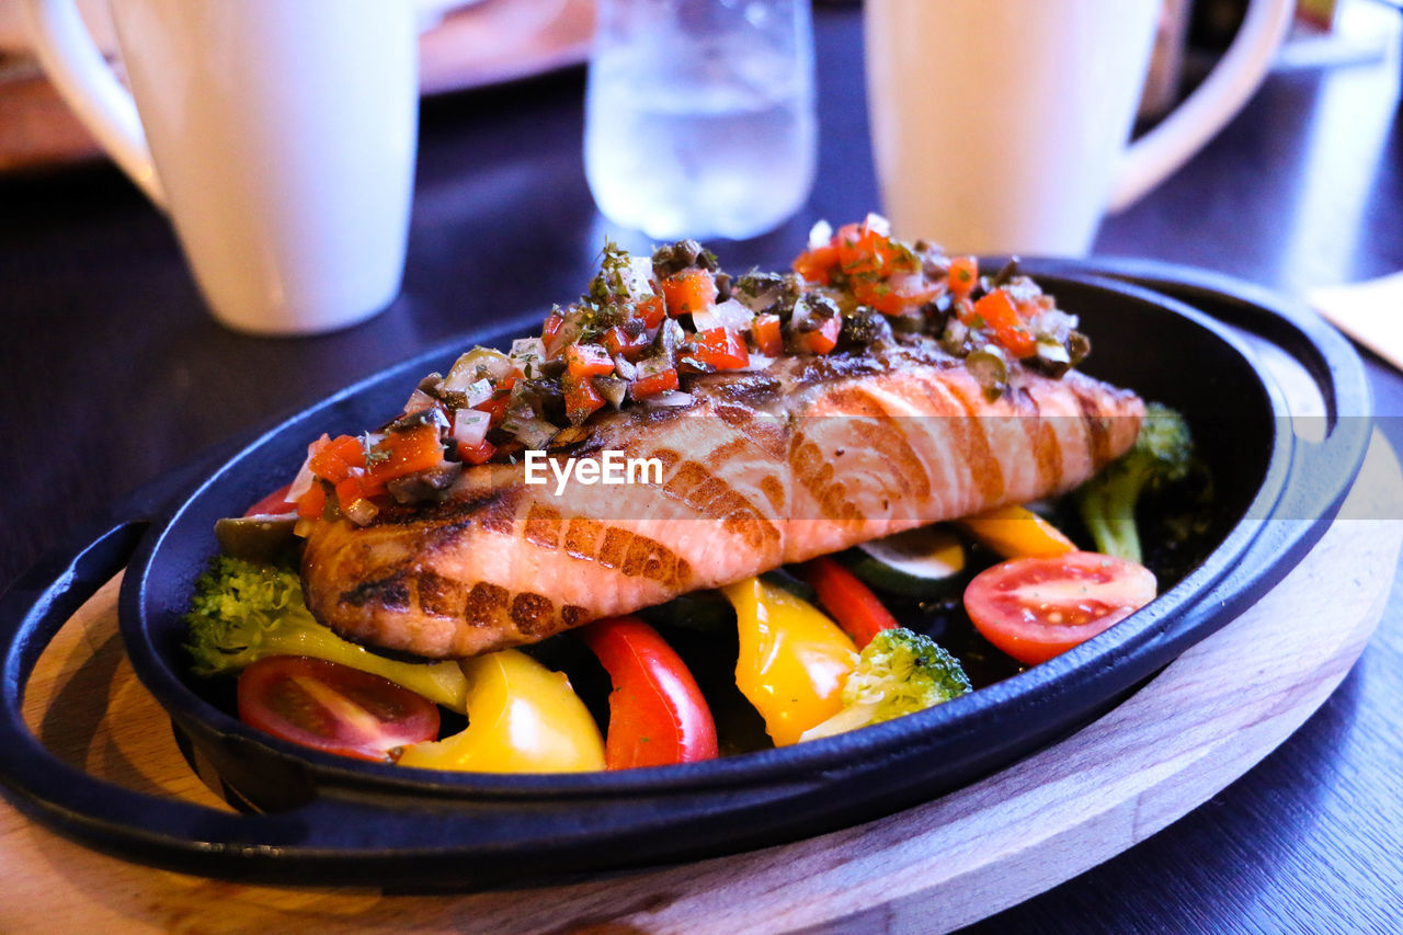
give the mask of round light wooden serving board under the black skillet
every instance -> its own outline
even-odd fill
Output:
[[[1310,716],[1358,658],[1403,543],[1403,476],[1375,432],[1341,518],[1263,601],[1110,715],[927,804],[845,831],[567,886],[456,896],[278,889],[126,863],[0,800],[0,931],[776,932],[955,928],[1120,854],[1205,802]],[[1341,585],[1347,583],[1347,585]],[[25,699],[94,775],[224,807],[187,768],[116,630],[118,581],[59,633]]]

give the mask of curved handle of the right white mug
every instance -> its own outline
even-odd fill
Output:
[[[1188,161],[1247,102],[1291,25],[1295,0],[1251,0],[1237,38],[1198,88],[1159,126],[1134,142],[1111,187],[1110,211],[1141,199]]]

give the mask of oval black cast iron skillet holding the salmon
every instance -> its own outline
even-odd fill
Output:
[[[1086,644],[947,705],[824,741],[703,764],[582,775],[476,775],[362,764],[254,731],[202,695],[180,647],[210,528],[286,480],[306,442],[359,431],[464,337],[283,420],[237,453],[216,452],[133,496],[41,562],[0,599],[0,779],[31,814],[118,855],[236,879],[484,887],[680,861],[794,840],[967,783],[1099,716],[1261,597],[1323,533],[1369,437],[1368,390],[1350,345],[1309,316],[1232,281],[1167,267],[1111,268],[1159,292],[1026,264],[1083,319],[1087,369],[1184,411],[1212,463],[1223,518],[1207,560]],[[1170,295],[1263,334],[1295,357],[1327,403],[1306,444],[1270,376],[1225,329]],[[1340,416],[1352,418],[1340,418]],[[212,463],[217,463],[213,468]],[[187,486],[188,490],[187,490]],[[167,498],[171,491],[180,496]],[[128,567],[121,628],[133,667],[171,715],[202,775],[268,809],[231,814],[94,779],[49,754],[21,715],[39,653],[72,612]]]

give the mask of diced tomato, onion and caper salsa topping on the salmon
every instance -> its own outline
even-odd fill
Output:
[[[696,240],[651,257],[606,243],[585,295],[553,307],[540,337],[505,354],[474,347],[375,432],[323,435],[288,501],[303,519],[365,525],[390,503],[446,496],[464,465],[578,444],[596,413],[686,406],[693,379],[784,355],[861,357],[934,338],[996,399],[1013,362],[1052,378],[1076,366],[1090,351],[1076,326],[1016,260],[981,275],[974,257],[894,240],[877,215],[836,232],[817,225],[790,272],[732,278]]]

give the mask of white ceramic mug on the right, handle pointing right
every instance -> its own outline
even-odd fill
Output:
[[[866,0],[892,230],[958,253],[1087,253],[1107,209],[1163,181],[1246,102],[1292,8],[1251,0],[1209,77],[1127,145],[1160,0]]]

